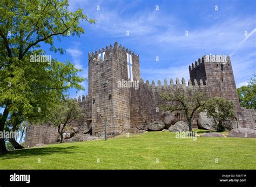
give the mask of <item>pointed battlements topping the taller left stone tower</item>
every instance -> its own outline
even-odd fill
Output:
[[[89,60],[90,59],[97,59],[97,57],[98,57],[98,55],[100,54],[100,53],[103,53],[103,52],[105,52],[105,57],[107,57],[106,56],[106,53],[108,53],[108,54],[110,54],[111,52],[113,52],[113,51],[120,51],[120,52],[124,52],[124,53],[129,53],[130,55],[132,55],[132,56],[136,56],[136,57],[139,57],[139,55],[138,54],[136,54],[136,53],[134,53],[133,51],[131,51],[130,49],[128,49],[128,48],[125,48],[124,46],[122,46],[121,44],[118,46],[118,42],[115,42],[114,43],[114,46],[112,46],[111,44],[110,44],[110,46],[106,46],[105,48],[103,47],[102,49],[99,49],[98,51],[96,50],[94,53],[92,52],[92,53],[88,53],[88,57],[89,57]],[[100,59],[101,60],[101,59]]]

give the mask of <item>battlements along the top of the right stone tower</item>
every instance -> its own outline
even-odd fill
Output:
[[[194,63],[192,62],[191,66],[189,66],[189,69],[192,70],[204,62],[227,63],[227,61],[230,61],[230,56],[228,55],[204,55],[201,57],[201,59],[199,58],[198,61],[196,60]]]

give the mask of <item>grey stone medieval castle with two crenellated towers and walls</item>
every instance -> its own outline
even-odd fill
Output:
[[[84,107],[86,118],[77,121],[83,124],[91,123],[91,134],[104,135],[104,88],[106,87],[106,119],[107,135],[118,135],[129,128],[147,130],[147,125],[154,121],[163,121],[163,113],[158,107],[166,104],[161,99],[162,92],[174,92],[179,88],[193,89],[204,92],[208,96],[225,97],[235,103],[237,127],[255,128],[256,113],[253,109],[240,107],[235,86],[234,75],[230,57],[227,55],[205,55],[189,66],[190,80],[186,85],[184,78],[181,82],[176,78],[164,84],[160,81],[157,85],[152,81],[144,82],[140,78],[139,55],[127,48],[114,46],[99,49],[89,53],[89,92],[88,95],[79,96],[78,104]],[[127,84],[127,83],[131,84]],[[137,84],[137,87],[136,87]],[[127,86],[130,85],[130,86]],[[183,112],[175,114],[177,121],[186,118]],[[197,117],[193,119],[193,126],[197,126]],[[37,143],[57,142],[58,132],[49,125],[28,125],[26,131],[26,147],[35,146]]]

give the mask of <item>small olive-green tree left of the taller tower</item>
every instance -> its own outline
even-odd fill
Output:
[[[58,133],[60,135],[60,143],[63,142],[63,131],[65,127],[75,121],[76,119],[83,118],[83,110],[79,107],[76,100],[62,100],[56,105],[52,112],[45,120],[50,121],[51,124],[58,127]]]

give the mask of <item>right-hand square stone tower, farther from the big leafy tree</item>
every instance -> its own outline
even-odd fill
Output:
[[[209,96],[224,97],[233,100],[235,103],[235,111],[237,112],[237,120],[242,125],[242,114],[239,99],[237,95],[237,87],[235,86],[234,74],[230,56],[228,55],[205,55],[202,59],[192,63],[189,67],[190,79],[192,82],[203,80],[208,85]]]

